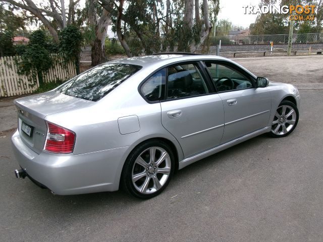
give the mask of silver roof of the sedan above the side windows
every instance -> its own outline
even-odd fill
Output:
[[[139,56],[139,57],[123,58],[123,59],[111,61],[109,63],[138,65],[138,66],[142,66],[143,68],[154,66],[156,68],[157,66],[161,67],[175,62],[191,61],[191,60],[199,60],[199,59],[214,59],[214,60],[230,61],[227,58],[217,56],[217,55],[166,53],[166,54],[154,54],[154,55],[145,55],[145,56]]]

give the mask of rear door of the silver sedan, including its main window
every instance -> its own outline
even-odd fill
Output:
[[[207,81],[197,63],[167,68],[161,123],[178,140],[185,158],[219,145],[223,136],[223,102]]]

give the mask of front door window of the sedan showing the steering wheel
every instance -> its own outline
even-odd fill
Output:
[[[206,67],[218,92],[252,87],[252,82],[248,78],[228,66],[207,62]]]

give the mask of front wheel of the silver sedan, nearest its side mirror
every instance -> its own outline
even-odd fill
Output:
[[[275,113],[272,123],[271,136],[274,138],[285,137],[293,132],[298,123],[297,106],[290,101],[282,101]]]

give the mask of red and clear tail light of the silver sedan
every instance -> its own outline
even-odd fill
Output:
[[[47,127],[44,150],[58,154],[72,153],[75,143],[75,133],[48,122]]]

